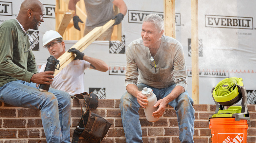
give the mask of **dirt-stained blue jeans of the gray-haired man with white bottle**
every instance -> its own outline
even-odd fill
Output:
[[[167,96],[175,87],[172,85],[166,88],[154,88],[145,84],[138,84],[139,91],[144,87],[151,88],[156,94],[157,100]],[[193,100],[189,97],[187,91],[179,95],[175,100],[168,103],[174,107],[179,124],[179,138],[181,143],[194,143],[194,121],[195,110],[193,108]],[[120,99],[120,110],[123,122],[123,128],[127,143],[142,143],[142,131],[139,122],[139,107],[137,98],[126,92]]]

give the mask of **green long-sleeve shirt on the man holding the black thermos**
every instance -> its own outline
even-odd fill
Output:
[[[28,41],[15,19],[0,25],[0,87],[15,80],[30,82],[32,75],[37,73],[32,51],[24,52],[24,48],[29,48]]]

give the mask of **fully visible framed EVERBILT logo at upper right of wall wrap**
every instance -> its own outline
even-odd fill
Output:
[[[252,17],[205,15],[206,27],[253,29]]]

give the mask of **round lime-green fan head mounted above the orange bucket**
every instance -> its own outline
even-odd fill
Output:
[[[242,78],[231,77],[220,81],[213,90],[213,98],[223,106],[231,106],[242,99],[242,94],[238,91],[239,86],[244,86]]]

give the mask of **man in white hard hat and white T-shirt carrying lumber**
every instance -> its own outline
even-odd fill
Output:
[[[63,37],[54,30],[46,31],[43,35],[43,47],[47,48],[50,55],[55,58],[66,52]],[[84,55],[75,48],[69,49],[68,52],[75,53],[76,57],[54,77],[52,88],[66,91],[71,95],[79,94],[84,92],[83,75],[86,68],[108,71],[108,65],[100,59]],[[45,66],[46,64],[42,65],[39,72],[44,71]]]

